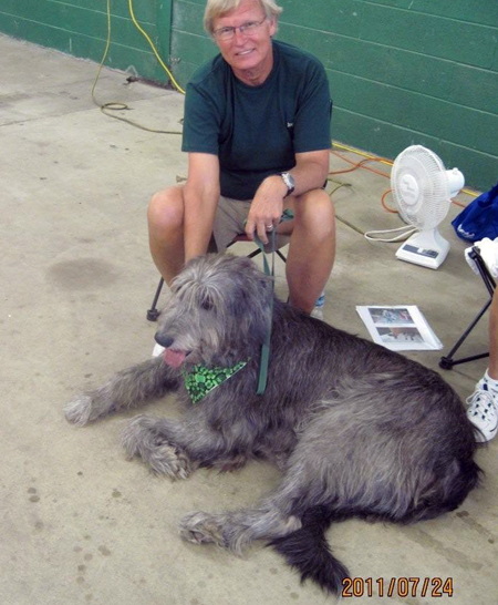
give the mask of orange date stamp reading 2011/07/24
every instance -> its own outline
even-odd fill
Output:
[[[453,577],[345,577],[342,582],[342,597],[378,596],[406,597],[429,596],[452,597]]]

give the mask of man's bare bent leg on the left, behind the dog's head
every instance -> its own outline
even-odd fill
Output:
[[[147,222],[153,260],[169,285],[185,262],[183,187],[156,193],[148,206]]]

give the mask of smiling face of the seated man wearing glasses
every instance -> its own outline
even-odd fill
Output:
[[[230,40],[221,40],[215,34],[222,58],[236,75],[247,70],[261,71],[267,75],[270,73],[273,65],[271,37],[277,31],[277,20],[264,19],[264,10],[258,0],[242,0],[237,9],[215,19],[215,32],[220,28],[232,28],[260,21],[262,21],[261,25],[258,25],[251,33],[236,30]]]

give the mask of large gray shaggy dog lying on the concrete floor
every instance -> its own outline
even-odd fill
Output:
[[[183,420],[134,418],[127,454],[186,479],[199,466],[235,469],[266,459],[276,491],[235,512],[187,515],[185,540],[241,553],[264,540],[301,578],[340,593],[350,574],[325,531],[346,517],[408,523],[456,509],[478,483],[473,425],[434,371],[338,330],[273,298],[271,278],[247,258],[198,257],[175,279],[155,358],[75,398],[66,418],[86,424],[176,391]],[[261,345],[272,322],[268,386],[256,394]],[[191,373],[239,368],[193,403]],[[209,377],[208,377],[209,379]]]

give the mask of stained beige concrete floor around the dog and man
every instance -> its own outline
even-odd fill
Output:
[[[155,325],[145,311],[157,274],[145,208],[156,189],[185,176],[186,157],[179,136],[137,130],[98,111],[90,95],[94,63],[0,37],[0,603],[333,602],[313,585],[301,586],[283,560],[260,545],[238,560],[177,535],[178,520],[191,510],[255,502],[278,482],[274,469],[255,463],[170,483],[125,460],[120,434],[126,418],[85,429],[66,423],[62,408],[76,391],[151,355]],[[123,113],[149,127],[180,127],[183,96],[175,92],[126,85],[123,73],[104,70],[96,94],[101,102],[128,103]],[[388,166],[374,165],[388,174]],[[331,156],[331,170],[346,167]],[[400,226],[380,203],[386,178],[357,170],[336,180],[350,186],[333,195],[338,259],[325,319],[367,337],[356,305],[417,305],[448,351],[486,300],[449,224],[459,208],[453,206],[442,226],[449,257],[432,271],[396,260],[396,246],[359,233]],[[238,252],[245,254],[243,246]],[[281,277],[278,290],[286,295]],[[464,352],[486,348],[484,320]],[[408,355],[437,369],[442,351]],[[465,398],[485,368],[481,360],[444,376]],[[176,413],[164,402],[147,411]],[[395,592],[390,603],[498,603],[498,440],[477,459],[485,480],[457,512],[409,527],[361,521],[332,527],[331,545],[351,573],[373,578],[373,596],[351,601],[385,603],[377,581],[404,576],[450,577],[454,595],[422,596],[421,581],[414,595]]]

